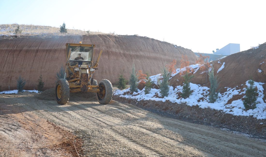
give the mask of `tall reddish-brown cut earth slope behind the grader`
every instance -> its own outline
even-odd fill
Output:
[[[133,63],[136,70],[150,75],[161,72],[162,67],[177,60],[180,66],[182,54],[188,56],[190,63],[195,63],[196,55],[189,49],[167,42],[140,36],[113,35],[71,35],[71,36],[21,36],[0,40],[1,73],[4,80],[0,82],[1,90],[16,89],[19,75],[27,83],[25,89],[36,88],[40,74],[45,83],[44,88],[55,86],[56,72],[65,67],[66,43],[95,44],[96,57],[99,50],[103,54],[99,61],[99,70],[94,79],[118,81],[120,73],[128,78]]]

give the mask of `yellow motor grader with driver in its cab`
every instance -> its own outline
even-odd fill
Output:
[[[112,100],[113,86],[109,80],[103,79],[97,83],[93,74],[97,70],[98,62],[94,62],[95,45],[66,44],[66,69],[63,79],[57,80],[55,93],[58,104],[69,101],[70,92],[95,92],[100,104],[108,104]]]

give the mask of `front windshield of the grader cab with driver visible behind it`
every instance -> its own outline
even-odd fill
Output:
[[[92,47],[68,46],[71,48],[69,61],[92,61]]]

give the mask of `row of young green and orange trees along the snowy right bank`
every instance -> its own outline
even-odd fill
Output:
[[[220,81],[217,78],[217,75],[214,75],[214,67],[209,64],[207,61],[208,56],[202,56],[200,54],[200,57],[198,58],[197,62],[200,64],[199,69],[203,71],[203,75],[206,75],[206,83],[207,78],[210,82],[210,88],[209,88],[209,103],[215,103],[219,97],[218,94],[220,92],[220,89],[218,89]],[[184,99],[188,98],[192,94],[192,90],[190,88],[190,79],[192,79],[194,69],[189,66],[188,57],[185,55],[182,55],[181,58],[181,66],[180,66],[180,72],[179,75],[183,78],[183,86],[180,96]],[[176,60],[173,60],[169,65],[164,66],[161,73],[160,83],[159,83],[159,91],[162,97],[167,97],[169,95],[169,78],[172,74],[176,73],[176,69],[174,66],[176,65]],[[123,77],[122,74],[119,75],[119,81],[118,81],[118,88],[120,90],[123,90],[126,88],[126,79]],[[148,74],[143,74],[142,70],[139,70],[138,73],[136,73],[135,66],[132,66],[132,71],[130,74],[129,79],[129,85],[130,85],[130,91],[131,92],[138,92],[138,83],[145,84],[145,94],[149,94],[151,88],[153,88],[153,82],[151,82],[151,79],[149,78]],[[257,91],[254,86],[254,81],[249,80],[248,83],[250,84],[249,87],[246,88],[246,96],[244,97],[243,104],[246,110],[248,109],[255,109],[256,108],[256,100],[257,100]]]

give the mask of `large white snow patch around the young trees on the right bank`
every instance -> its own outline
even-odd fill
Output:
[[[246,88],[236,89],[236,88],[227,88],[227,91],[224,93],[218,93],[218,100],[215,103],[209,102],[209,88],[205,86],[200,86],[198,84],[190,83],[190,88],[192,90],[192,94],[184,99],[182,97],[178,97],[178,93],[182,92],[183,87],[182,86],[176,86],[174,88],[173,86],[169,86],[169,95],[164,98],[159,98],[158,96],[161,96],[160,90],[158,89],[151,89],[151,92],[149,94],[145,94],[145,88],[143,90],[138,90],[138,92],[134,92],[132,95],[125,94],[125,92],[128,92],[130,88],[120,91],[116,90],[114,92],[114,95],[119,95],[119,97],[124,97],[127,99],[134,99],[137,101],[140,100],[154,100],[154,101],[170,101],[172,103],[186,103],[189,106],[196,106],[198,105],[200,108],[211,108],[216,109],[218,111],[222,111],[224,113],[232,114],[235,116],[252,116],[257,119],[266,119],[266,106],[263,101],[263,85],[264,83],[261,82],[254,82],[254,86],[257,87],[258,92],[258,98],[256,105],[257,108],[245,110],[243,101],[241,98],[239,100],[234,100],[230,104],[227,104],[228,101],[234,96],[234,95],[241,95],[246,93]],[[248,81],[246,82],[246,85],[249,87],[250,84]],[[199,102],[198,102],[199,100]]]

